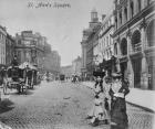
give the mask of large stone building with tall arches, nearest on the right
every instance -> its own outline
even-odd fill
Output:
[[[155,1],[115,0],[114,54],[131,86],[155,89]]]

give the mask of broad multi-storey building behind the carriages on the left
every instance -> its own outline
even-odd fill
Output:
[[[42,68],[45,37],[32,31],[22,31],[16,35],[16,55],[19,63],[29,62]]]

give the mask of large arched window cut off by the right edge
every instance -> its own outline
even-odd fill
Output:
[[[148,46],[155,46],[155,19],[148,24],[146,33]]]

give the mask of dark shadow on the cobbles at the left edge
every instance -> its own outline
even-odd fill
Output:
[[[3,99],[0,101],[0,114],[7,112],[9,110],[12,110],[14,107],[12,107],[13,103],[9,99]]]

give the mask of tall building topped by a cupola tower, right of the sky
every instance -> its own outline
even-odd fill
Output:
[[[91,22],[89,29],[83,31],[82,45],[82,76],[91,78],[93,74],[93,45],[97,40],[96,31],[100,29],[101,23],[99,22],[96,10],[91,12]]]

